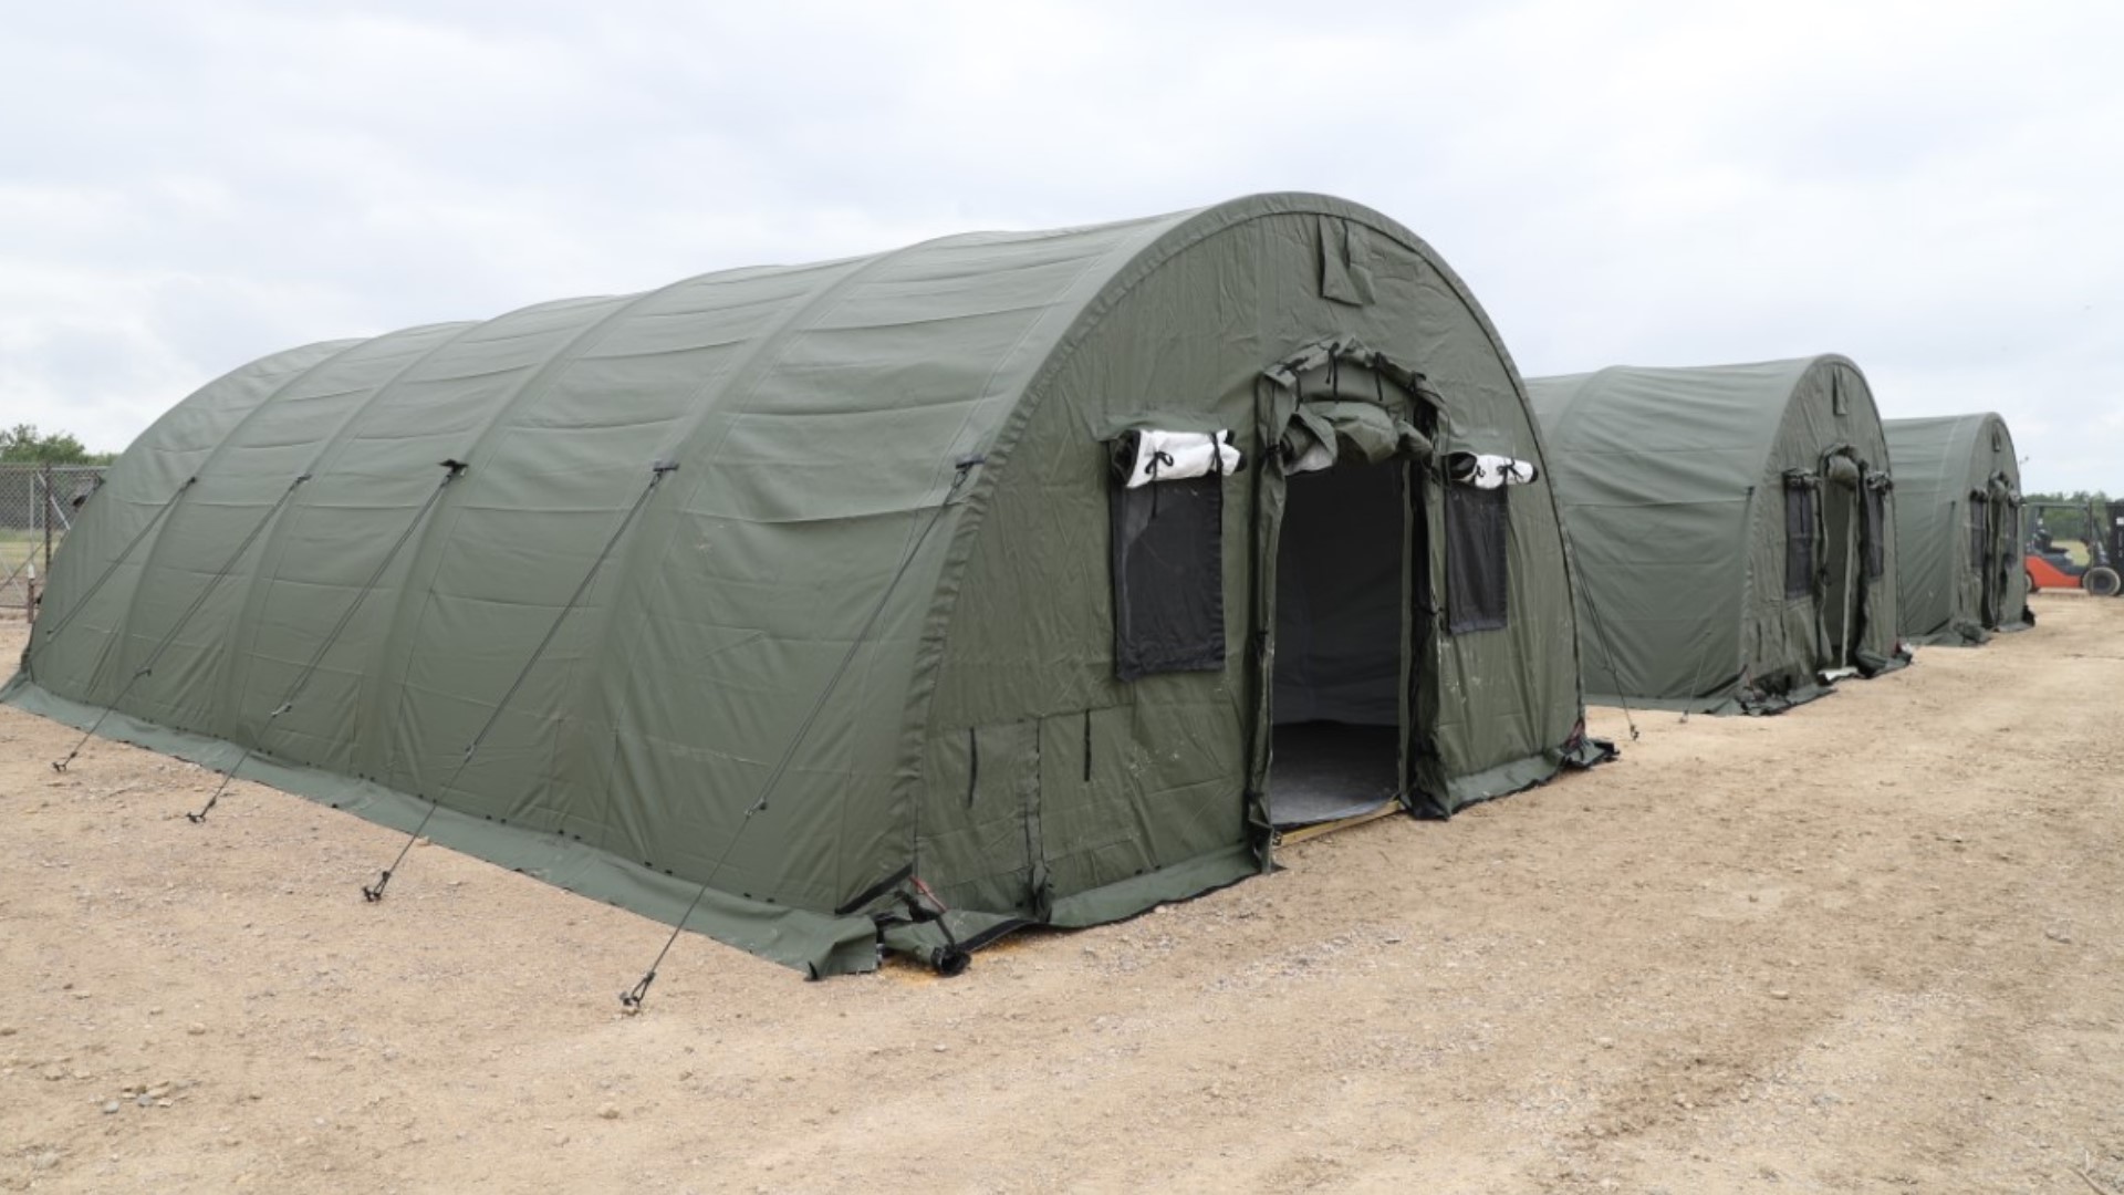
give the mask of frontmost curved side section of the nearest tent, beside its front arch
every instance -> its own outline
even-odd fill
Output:
[[[686,432],[680,455],[699,468],[682,470],[678,508],[644,523],[644,566],[631,574],[639,615],[614,623],[580,717],[661,719],[644,712],[658,693],[703,693],[665,704],[695,725],[750,725],[763,770],[796,751],[803,763],[771,810],[809,821],[748,829],[743,865],[756,874],[743,882],[754,891],[830,891],[839,906],[907,861],[915,804],[896,763],[907,683],[958,512],[939,502],[962,495],[954,466],[979,455],[1128,236],[947,238],[860,262],[786,313],[771,344],[750,347],[726,398]],[[988,466],[969,468],[979,476]],[[867,646],[847,657],[850,634],[873,612]],[[754,638],[724,644],[733,632]],[[675,642],[648,651],[637,642],[648,634]],[[845,678],[792,748],[843,659]],[[718,695],[701,672],[735,685]],[[750,693],[741,712],[731,708],[739,693]],[[701,731],[682,723],[661,738],[688,734]],[[637,787],[692,793],[720,810],[720,825],[735,825],[765,780],[697,776],[695,761],[665,753],[639,753],[639,763]],[[775,870],[786,872],[780,887]]]

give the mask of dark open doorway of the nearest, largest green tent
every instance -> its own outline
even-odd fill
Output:
[[[1402,791],[1406,474],[1340,464],[1287,481],[1268,774],[1279,829],[1383,812]]]

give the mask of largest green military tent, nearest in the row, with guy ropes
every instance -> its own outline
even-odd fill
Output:
[[[1601,751],[1519,374],[1334,198],[293,349],[106,481],[6,700],[811,974]]]

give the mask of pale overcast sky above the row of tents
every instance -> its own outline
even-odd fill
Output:
[[[1328,191],[1527,374],[1837,351],[2124,491],[2124,4],[70,0],[0,19],[0,423],[686,274]]]

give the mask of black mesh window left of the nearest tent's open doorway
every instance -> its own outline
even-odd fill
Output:
[[[1113,489],[1113,672],[1223,668],[1223,478]]]

